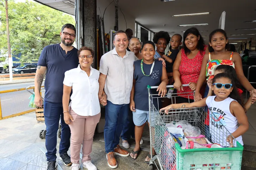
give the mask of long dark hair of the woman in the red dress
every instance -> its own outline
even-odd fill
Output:
[[[203,40],[202,35],[200,34],[200,32],[197,30],[196,27],[191,27],[188,30],[186,30],[183,34],[183,48],[186,54],[190,54],[191,51],[188,49],[188,47],[185,45],[185,39],[187,38],[187,36],[189,34],[194,34],[196,37],[200,37],[198,40],[198,44],[197,44],[197,49],[200,51],[200,53],[203,52],[203,49],[205,48],[204,44],[205,41]]]

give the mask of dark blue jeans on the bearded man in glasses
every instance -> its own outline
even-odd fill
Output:
[[[64,121],[62,103],[51,103],[44,100],[44,120],[46,125],[45,147],[47,161],[56,161],[57,131],[61,118],[61,139],[59,153],[67,153],[70,146],[70,129]]]

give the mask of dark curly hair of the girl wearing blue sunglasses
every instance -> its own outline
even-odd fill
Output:
[[[214,76],[213,80],[212,80],[212,83],[215,83],[217,79],[220,79],[220,78],[227,78],[227,79],[230,79],[231,80],[231,84],[232,84],[232,87],[233,87],[233,90],[232,92],[229,94],[228,97],[236,100],[243,108],[244,108],[244,104],[243,104],[243,100],[242,98],[240,97],[240,95],[238,94],[238,91],[237,91],[237,86],[236,86],[236,83],[234,82],[233,78],[230,77],[229,74],[227,73],[219,73],[219,74],[216,74],[216,76]],[[246,109],[244,108],[245,112],[246,112]]]

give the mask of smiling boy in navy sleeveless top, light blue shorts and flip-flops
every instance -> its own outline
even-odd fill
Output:
[[[130,95],[130,110],[133,111],[133,122],[135,124],[135,148],[130,153],[132,159],[136,159],[140,152],[140,139],[144,130],[146,122],[149,126],[149,104],[148,104],[148,90],[147,85],[158,86],[157,90],[152,93],[161,95],[166,94],[166,85],[168,84],[168,77],[165,67],[161,61],[154,59],[155,45],[152,41],[145,41],[142,45],[142,60],[134,61],[134,77],[133,87]],[[157,102],[156,102],[157,103]],[[158,106],[155,105],[157,109]],[[136,108],[136,109],[135,109]],[[153,149],[152,155],[156,155]],[[148,163],[150,155],[145,159]]]

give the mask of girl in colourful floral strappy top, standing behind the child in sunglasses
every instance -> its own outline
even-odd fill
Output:
[[[255,90],[248,79],[244,76],[242,60],[238,53],[229,50],[227,34],[224,30],[217,29],[209,35],[209,53],[206,53],[203,61],[199,79],[196,83],[195,101],[201,100],[200,89],[206,80],[214,77],[214,71],[219,65],[230,65],[235,68],[240,84],[248,91]],[[207,96],[209,87],[206,87]],[[256,100],[256,98],[253,98]]]

